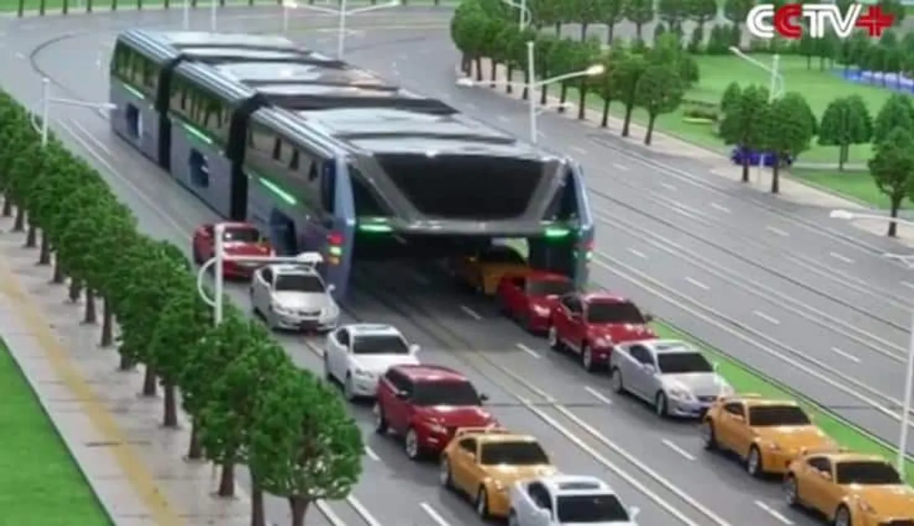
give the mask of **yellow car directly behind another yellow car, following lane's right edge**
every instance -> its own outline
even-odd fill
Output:
[[[759,395],[720,398],[702,425],[705,448],[731,451],[746,462],[753,477],[783,474],[804,451],[837,449],[795,402]]]

